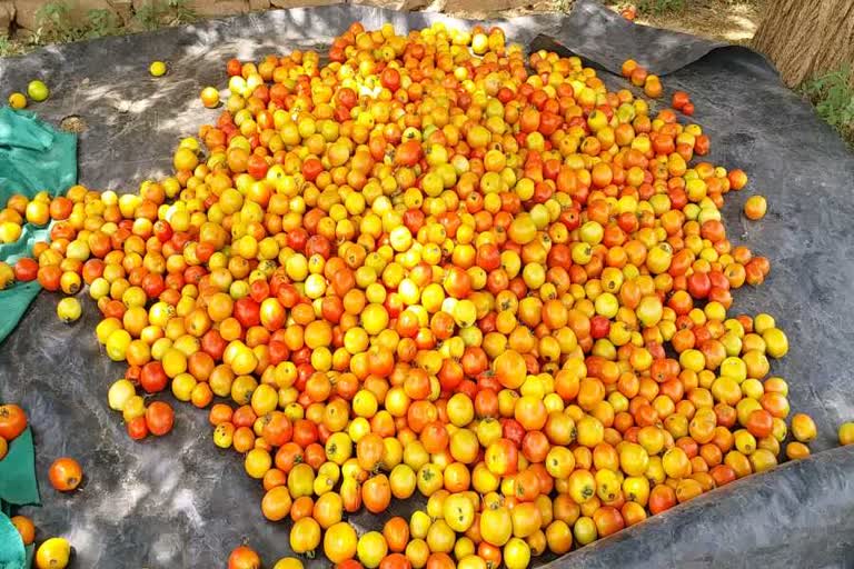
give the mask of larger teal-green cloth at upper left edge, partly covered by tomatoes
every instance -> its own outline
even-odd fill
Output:
[[[77,136],[60,132],[36,114],[0,109],[0,208],[16,193],[51,196],[77,183]],[[48,229],[24,226],[14,243],[0,244],[0,261],[13,263],[29,254],[32,243],[47,241]],[[37,282],[0,291],[0,341],[18,325],[39,292]]]

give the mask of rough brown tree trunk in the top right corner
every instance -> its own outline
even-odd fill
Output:
[[[854,66],[854,0],[766,0],[753,47],[795,87]]]

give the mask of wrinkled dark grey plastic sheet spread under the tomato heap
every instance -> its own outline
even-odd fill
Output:
[[[225,83],[229,58],[322,49],[354,20],[368,28],[390,21],[399,31],[435,20],[474,23],[363,6],[269,11],[0,60],[0,84],[23,90],[30,79],[46,79],[52,96],[37,110],[57,123],[77,116],[87,124],[81,181],[132,191],[166,174],[180,138],[216,119],[198,92]],[[812,458],[739,480],[564,558],[546,557],[547,567],[854,567],[854,447],[835,448],[836,428],[854,419],[854,157],[747,49],[633,26],[586,0],[568,16],[486,23],[600,69],[616,71],[634,57],[667,74],[666,96],[692,93],[694,120],[712,137],[709,159],[751,177],[744,191],[726,197],[728,236],[772,260],[762,287],[735,292],[734,311],[769,312],[786,330],[790,353],[772,370],[788,381],[793,410],[818,426]],[[147,72],[156,59],[169,63],[165,78]],[[620,81],[608,78],[613,86]],[[758,222],[741,214],[753,193],[768,197],[768,214]],[[245,540],[267,563],[288,555],[289,523],[264,520],[260,485],[244,473],[238,455],[211,443],[206,411],[177,405],[168,437],[141,443],[127,437],[106,402],[125,368],[95,339],[97,310],[88,305],[68,327],[54,316],[58,300],[42,293],[0,346],[0,400],[23,405],[33,422],[44,505],[24,513],[39,535],[69,538],[77,567],[86,568],[222,567]],[[47,481],[51,461],[66,455],[78,458],[87,476],[71,496]],[[417,503],[395,502],[389,516]],[[381,520],[363,512],[350,521],[366,529]],[[320,558],[310,566],[328,563]]]

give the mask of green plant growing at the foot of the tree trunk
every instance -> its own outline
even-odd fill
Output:
[[[805,81],[800,90],[815,106],[818,117],[854,148],[854,69],[845,66],[818,76]]]

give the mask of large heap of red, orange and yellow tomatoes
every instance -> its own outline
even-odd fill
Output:
[[[131,437],[171,429],[150,395],[209,407],[295,553],[383,569],[522,569],[773,468],[786,440],[810,453],[771,376],[785,333],[729,313],[769,271],[721,219],[747,177],[698,158],[686,93],[654,111],[497,28],[354,23],[328,56],[229,61],[216,123],[137,193],[2,212],[54,220],[0,274],[88,286]],[[416,493],[381,531],[347,521]]]

